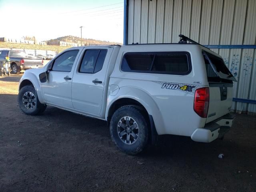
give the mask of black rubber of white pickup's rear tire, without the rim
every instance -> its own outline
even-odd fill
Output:
[[[118,124],[124,117],[130,117],[131,122],[135,120],[136,124],[138,125],[139,132],[137,140],[132,144],[127,144],[126,139],[125,142],[120,138],[120,132],[118,132]],[[133,124],[132,124],[133,125]],[[120,127],[120,126],[119,126]],[[125,130],[125,129],[124,129]],[[144,113],[135,106],[123,106],[120,107],[116,112],[114,112],[111,120],[110,120],[110,135],[119,150],[126,154],[136,155],[142,152],[147,144],[148,144],[148,123],[146,121]],[[126,135],[127,138],[127,135]],[[131,137],[133,138],[133,137]]]

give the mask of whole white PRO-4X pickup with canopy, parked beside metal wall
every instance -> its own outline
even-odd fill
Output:
[[[20,109],[37,115],[50,105],[106,120],[127,154],[162,134],[211,142],[232,126],[236,79],[218,54],[181,37],[179,44],[69,48],[24,73]]]

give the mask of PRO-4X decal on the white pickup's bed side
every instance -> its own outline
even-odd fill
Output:
[[[198,85],[195,86],[193,84],[181,84],[181,83],[170,83],[170,82],[159,82],[159,81],[155,81],[155,83],[160,84],[162,89],[180,90],[188,94],[194,94],[194,91],[197,88],[202,87]]]

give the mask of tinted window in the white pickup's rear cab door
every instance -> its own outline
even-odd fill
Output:
[[[79,68],[81,73],[96,73],[102,69],[107,50],[86,50]]]

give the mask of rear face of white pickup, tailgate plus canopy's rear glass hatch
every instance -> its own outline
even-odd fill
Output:
[[[209,82],[209,108],[206,123],[228,114],[233,99],[233,81],[236,81],[224,61],[217,54],[203,51]]]

